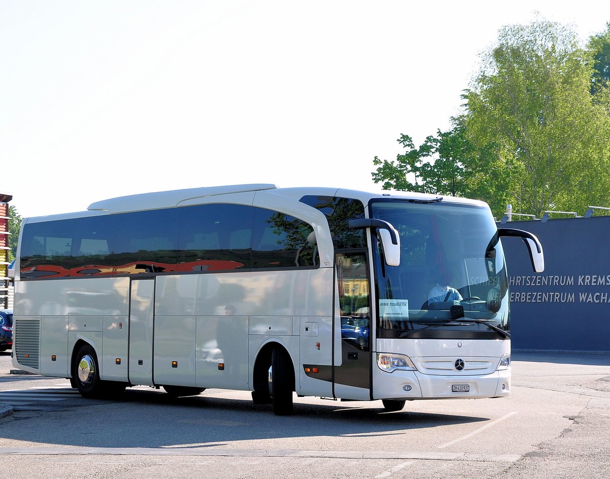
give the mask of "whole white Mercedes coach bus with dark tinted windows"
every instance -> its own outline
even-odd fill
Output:
[[[504,397],[500,236],[544,269],[486,203],[407,192],[220,186],[24,219],[13,365],[85,397],[249,390],[275,414],[295,392],[388,411]]]

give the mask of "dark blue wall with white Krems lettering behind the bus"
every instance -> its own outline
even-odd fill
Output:
[[[545,271],[519,238],[502,238],[513,349],[610,352],[610,217],[498,224],[534,233]]]

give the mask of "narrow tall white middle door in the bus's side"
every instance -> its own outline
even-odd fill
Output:
[[[129,382],[152,383],[154,279],[132,279],[129,302]]]

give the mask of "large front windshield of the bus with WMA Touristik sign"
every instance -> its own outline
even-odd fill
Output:
[[[489,208],[405,200],[370,208],[401,245],[400,266],[374,249],[378,337],[498,337],[498,327],[509,329],[506,267]]]

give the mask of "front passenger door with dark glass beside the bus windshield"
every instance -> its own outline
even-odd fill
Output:
[[[337,398],[371,399],[370,280],[365,250],[335,256],[339,310],[335,334],[340,331],[340,364],[334,356],[334,395]],[[337,302],[335,302],[337,304]],[[340,322],[340,327],[337,323]]]

